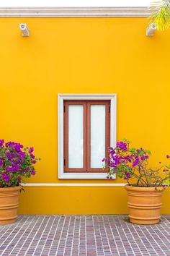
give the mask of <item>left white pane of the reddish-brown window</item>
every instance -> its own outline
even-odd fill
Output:
[[[68,106],[68,168],[84,167],[84,106]]]

